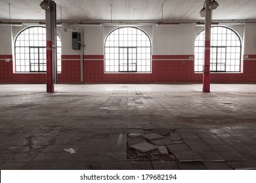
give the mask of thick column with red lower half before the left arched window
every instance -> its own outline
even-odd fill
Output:
[[[54,92],[56,83],[56,3],[48,0],[49,9],[45,11],[47,92]]]

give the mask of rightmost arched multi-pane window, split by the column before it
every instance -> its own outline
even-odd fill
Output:
[[[203,30],[195,41],[195,72],[203,71]],[[227,27],[211,27],[211,72],[240,72],[241,40],[236,32]]]

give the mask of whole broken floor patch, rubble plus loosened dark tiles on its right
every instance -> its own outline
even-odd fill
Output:
[[[127,135],[127,161],[203,161],[175,129],[151,127],[144,125],[144,133]]]

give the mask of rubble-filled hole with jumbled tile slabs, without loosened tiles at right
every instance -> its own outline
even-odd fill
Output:
[[[169,140],[174,129],[153,128],[154,125],[143,125],[144,133],[127,135],[127,161],[175,161],[167,144],[175,144]],[[182,141],[179,141],[179,143]]]

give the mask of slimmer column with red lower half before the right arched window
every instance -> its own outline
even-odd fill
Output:
[[[210,92],[210,56],[211,56],[211,0],[205,0],[205,43],[203,65],[203,92]]]

